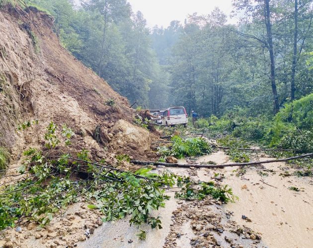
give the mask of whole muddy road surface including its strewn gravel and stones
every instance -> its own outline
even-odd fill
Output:
[[[268,159],[265,155],[260,161]],[[223,151],[198,158],[197,163],[231,163]],[[180,163],[186,163],[180,160]],[[193,180],[229,185],[238,196],[235,203],[206,199],[183,201],[172,196],[156,212],[161,230],[147,225],[146,241],[139,241],[136,227],[128,220],[104,223],[78,247],[285,247],[310,248],[313,242],[313,180],[285,177],[293,172],[285,163],[271,163],[239,170],[162,168]],[[291,190],[297,187],[300,191]],[[173,191],[175,189],[172,189]]]

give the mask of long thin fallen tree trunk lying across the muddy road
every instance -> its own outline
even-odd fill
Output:
[[[294,160],[298,158],[305,158],[305,157],[312,157],[313,153],[307,153],[295,157],[290,158],[281,158],[281,159],[273,159],[273,160],[265,160],[265,161],[255,161],[255,162],[248,162],[248,163],[234,163],[234,164],[221,164],[221,165],[198,165],[198,164],[170,164],[170,163],[163,163],[163,162],[154,162],[154,161],[138,161],[138,160],[131,160],[131,163],[137,165],[163,165],[166,167],[181,167],[181,168],[221,168],[221,167],[231,167],[231,166],[249,166],[249,165],[260,165],[260,164],[268,164],[268,163],[275,163],[275,162],[284,162],[289,160]]]

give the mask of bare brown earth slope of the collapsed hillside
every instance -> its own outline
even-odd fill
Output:
[[[33,7],[0,9],[0,147],[18,164],[23,150],[43,147],[52,121],[74,130],[71,152],[86,149],[109,164],[115,154],[154,156],[154,134],[133,125],[127,99],[60,45],[53,22]],[[16,132],[28,120],[39,123]]]

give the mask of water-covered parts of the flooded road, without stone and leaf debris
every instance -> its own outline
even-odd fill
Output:
[[[268,158],[261,157],[260,160]],[[208,156],[200,157],[197,163],[207,163],[209,161],[218,164],[231,163],[228,156],[223,151],[213,153]],[[180,160],[179,163],[186,163]],[[214,174],[224,175],[222,185],[229,185],[233,192],[238,196],[235,203],[223,204],[221,207],[214,204],[207,207],[205,211],[212,211],[216,216],[222,218],[221,223],[226,226],[229,220],[225,218],[226,212],[233,212],[230,221],[240,226],[251,228],[262,236],[260,244],[249,243],[234,233],[225,231],[223,235],[214,234],[216,240],[221,240],[221,247],[230,247],[225,242],[226,235],[232,237],[235,244],[241,247],[284,247],[284,248],[311,248],[313,243],[313,181],[310,177],[298,178],[295,176],[283,177],[286,164],[271,163],[266,166],[245,168],[243,175],[236,176],[237,167],[226,167],[224,169],[182,169],[168,168],[169,171],[181,176],[190,176],[193,180],[212,181]],[[165,170],[158,168],[157,170]],[[288,168],[290,172],[292,170]],[[288,187],[295,186],[304,191],[290,190]],[[138,248],[161,248],[165,240],[170,238],[169,233],[179,232],[181,237],[174,238],[170,244],[176,247],[192,247],[192,241],[197,241],[192,222],[185,220],[181,224],[173,225],[173,211],[178,208],[185,211],[184,214],[193,211],[191,202],[174,199],[173,192],[169,193],[172,197],[166,201],[165,208],[154,212],[154,216],[161,216],[161,230],[152,230],[149,225],[143,225],[140,230],[147,231],[146,241],[139,241],[136,234],[140,232],[136,227],[130,227],[128,219],[117,221],[116,223],[104,223],[97,228],[94,235],[87,241],[80,243],[78,247],[138,247]],[[183,203],[183,205],[181,205]],[[188,204],[190,206],[188,206]],[[185,206],[185,208],[181,207]],[[242,219],[242,215],[247,216],[251,222]],[[223,219],[224,218],[224,219]],[[208,224],[210,226],[210,224]],[[198,234],[199,235],[199,234]],[[202,234],[203,235],[203,234]],[[168,237],[167,237],[168,236]],[[167,238],[166,238],[167,237]],[[171,236],[172,237],[172,236]],[[131,243],[128,243],[130,241]],[[251,241],[251,240],[249,240]],[[192,244],[192,245],[191,245]],[[167,246],[171,247],[171,246]]]

